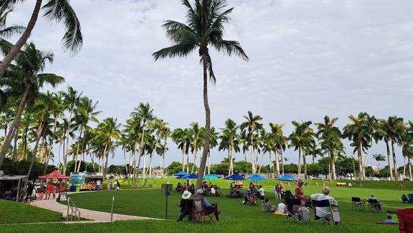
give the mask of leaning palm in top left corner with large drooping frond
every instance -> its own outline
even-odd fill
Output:
[[[23,3],[24,0],[1,0],[0,8],[12,9],[18,3]],[[36,24],[39,12],[43,9],[45,12],[43,16],[48,21],[54,21],[57,23],[63,23],[65,26],[65,35],[63,36],[62,43],[63,48],[70,50],[72,54],[78,52],[83,43],[83,36],[81,33],[81,23],[76,16],[72,6],[70,6],[70,0],[47,0],[42,6],[43,0],[36,0],[32,16],[26,26],[23,34],[19,40],[12,46],[12,48],[5,54],[3,61],[0,65],[0,77],[6,72],[8,66],[13,59],[19,54],[19,51],[23,45],[28,41],[34,25]]]

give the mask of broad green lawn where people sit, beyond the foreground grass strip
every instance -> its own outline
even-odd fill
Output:
[[[272,190],[271,187],[266,187],[266,190]],[[224,193],[228,190],[222,189]],[[305,187],[304,192],[307,195],[316,192],[321,192],[321,187]],[[368,188],[331,188],[331,196],[339,201],[341,223],[348,225],[357,223],[359,230],[364,227],[374,227],[377,221],[385,220],[386,210],[396,210],[404,207],[412,207],[412,205],[401,203],[400,196],[405,190],[377,190]],[[383,202],[383,213],[353,211],[351,207],[351,196],[359,196],[362,199],[368,198],[374,193]],[[155,218],[165,218],[165,194],[156,189],[142,190],[124,190],[124,191],[102,191],[89,192],[82,194],[70,195],[78,207],[83,207],[90,210],[98,210],[110,212],[112,204],[112,196],[115,197],[114,212],[118,214],[129,214],[136,216],[150,216]],[[278,203],[274,200],[272,192],[266,192],[266,196],[272,203]],[[169,219],[178,219],[179,209],[176,203],[179,203],[181,194],[173,192],[169,196]],[[218,207],[221,210],[220,218],[222,222],[226,221],[254,221],[253,225],[261,225],[262,221],[284,225],[285,217],[262,212],[260,205],[243,205],[242,199],[229,199],[226,197],[208,197],[209,202],[218,202]],[[313,214],[313,212],[311,212]],[[312,215],[313,217],[313,215]],[[310,227],[311,228],[311,227]],[[394,226],[394,230],[396,230]]]

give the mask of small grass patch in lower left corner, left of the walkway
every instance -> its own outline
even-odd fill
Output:
[[[25,203],[0,200],[0,224],[63,221],[62,214]],[[3,227],[0,228],[3,231]]]

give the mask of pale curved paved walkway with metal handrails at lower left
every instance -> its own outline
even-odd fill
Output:
[[[76,203],[75,203],[76,204]],[[63,214],[63,210],[67,207],[66,205],[62,205],[61,203],[56,202],[55,200],[39,200],[33,201],[31,205],[36,207],[41,207],[46,210],[52,210],[55,212],[59,212]],[[110,213],[107,212],[100,212],[94,210],[85,210],[78,208],[81,212],[81,217],[84,219],[89,219],[94,222],[109,222],[110,221]],[[125,220],[145,220],[145,219],[153,219],[148,217],[140,217],[140,216],[131,216],[125,214],[114,214],[114,221],[125,221]],[[160,219],[156,219],[160,220]]]

